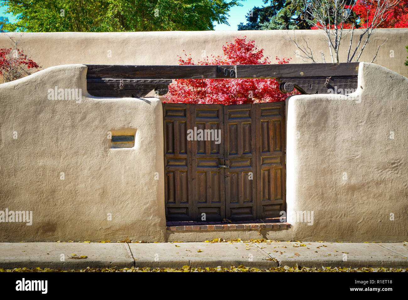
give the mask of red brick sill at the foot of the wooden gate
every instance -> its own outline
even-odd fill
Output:
[[[284,220],[286,221],[286,220]],[[169,221],[166,229],[169,231],[186,230],[234,230],[234,229],[284,229],[290,228],[290,223],[280,222],[279,218],[268,218],[253,221],[237,221],[232,223],[222,222],[197,222],[197,221]]]

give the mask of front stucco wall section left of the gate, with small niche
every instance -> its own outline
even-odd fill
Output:
[[[81,103],[48,99],[55,86]],[[0,241],[165,239],[160,100],[91,97],[86,66],[65,65],[0,84],[0,112],[0,210],[33,211],[31,226],[0,223]],[[110,149],[114,130],[135,131],[134,148]]]

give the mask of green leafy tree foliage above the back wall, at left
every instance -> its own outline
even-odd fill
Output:
[[[213,30],[239,0],[0,0],[16,23],[8,31]]]

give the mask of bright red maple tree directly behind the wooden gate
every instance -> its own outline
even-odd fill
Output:
[[[235,37],[233,42],[222,46],[225,57],[211,55],[211,59],[199,60],[197,65],[271,64],[264,57],[264,49],[258,49],[254,40]],[[179,56],[180,65],[194,65],[191,56]],[[279,59],[278,64],[287,64],[290,58]],[[196,104],[249,104],[284,101],[288,94],[279,91],[275,79],[177,79],[169,86],[166,95],[170,103]]]

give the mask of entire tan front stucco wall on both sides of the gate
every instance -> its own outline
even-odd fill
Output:
[[[50,100],[55,86],[82,88],[81,103]],[[0,241],[406,240],[408,79],[361,63],[358,86],[348,97],[286,100],[293,226],[259,236],[255,230],[166,232],[159,100],[91,97],[84,65],[1,84],[0,210],[33,211],[33,223],[0,223]],[[135,147],[110,149],[108,131],[135,131]],[[296,218],[312,211],[313,225]]]

